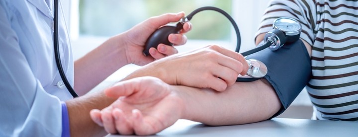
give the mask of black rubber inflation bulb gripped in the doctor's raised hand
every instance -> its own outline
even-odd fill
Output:
[[[159,29],[157,29],[155,32],[152,33],[152,35],[149,36],[145,43],[143,54],[145,56],[150,55],[149,49],[154,47],[157,49],[159,44],[165,44],[173,46],[174,44],[169,42],[168,36],[169,34],[176,33],[179,34],[180,30],[182,29],[183,25],[179,22],[177,25],[166,25]]]

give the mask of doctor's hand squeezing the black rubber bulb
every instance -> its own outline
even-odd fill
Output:
[[[173,46],[159,44],[158,50],[151,48],[149,53],[151,56],[144,56],[143,50],[144,45],[149,36],[160,28],[163,25],[166,25],[171,22],[177,22],[184,16],[183,12],[177,14],[167,13],[160,16],[151,17],[144,22],[134,26],[130,30],[124,33],[125,45],[125,54],[127,57],[127,62],[130,64],[136,65],[146,65],[154,60],[164,58],[169,55],[178,53],[177,49]],[[183,45],[186,43],[186,36],[183,33],[186,33],[191,29],[191,24],[189,22],[184,23],[183,29],[179,34],[170,34],[168,39],[174,45]]]

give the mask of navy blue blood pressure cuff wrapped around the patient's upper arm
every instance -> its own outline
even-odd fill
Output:
[[[271,118],[284,112],[310,80],[311,60],[301,40],[285,44],[276,51],[266,48],[246,59],[259,60],[268,68],[264,78],[281,102],[281,109]]]

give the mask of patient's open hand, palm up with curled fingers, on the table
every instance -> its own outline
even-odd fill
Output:
[[[173,125],[183,103],[171,86],[155,77],[138,77],[105,90],[118,98],[103,110],[91,110],[91,119],[110,134],[151,135]]]

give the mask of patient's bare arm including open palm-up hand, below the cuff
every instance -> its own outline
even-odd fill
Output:
[[[260,36],[262,39],[263,35]],[[310,51],[310,46],[304,44]],[[140,75],[137,73],[136,76]],[[107,90],[112,97],[126,97],[102,111],[92,110],[92,120],[104,126],[109,133],[149,135],[164,130],[178,119],[212,126],[259,122],[271,118],[283,107],[276,92],[264,78],[253,82],[235,82],[223,92],[168,85],[159,79],[141,79],[146,78],[123,81],[132,88],[126,88],[121,83],[122,87],[114,86]]]

